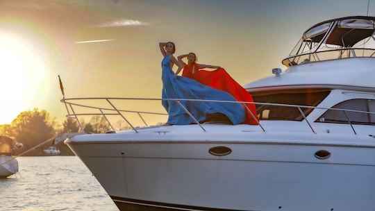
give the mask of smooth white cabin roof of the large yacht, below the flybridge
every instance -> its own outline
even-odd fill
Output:
[[[249,92],[314,87],[374,92],[375,58],[310,62],[289,67],[279,76],[272,75],[244,85]]]

